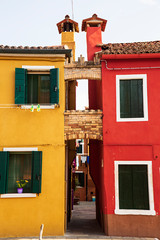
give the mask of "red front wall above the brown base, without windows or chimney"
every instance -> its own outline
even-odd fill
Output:
[[[105,58],[105,57],[104,57]],[[160,59],[107,59],[109,68],[158,67]],[[116,75],[147,74],[148,121],[116,122]],[[104,214],[114,214],[114,161],[152,161],[154,204],[160,215],[160,69],[107,70],[102,63]]]

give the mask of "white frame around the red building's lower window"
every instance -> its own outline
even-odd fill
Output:
[[[148,168],[148,194],[149,194],[149,210],[140,209],[120,209],[119,208],[119,165],[147,165]],[[115,214],[119,215],[156,215],[154,210],[154,194],[153,194],[153,177],[152,177],[152,161],[115,161]]]

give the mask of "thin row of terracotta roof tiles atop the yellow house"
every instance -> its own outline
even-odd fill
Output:
[[[38,46],[38,47],[29,47],[29,46],[8,46],[8,45],[0,45],[0,49],[26,49],[26,50],[46,50],[46,49],[49,49],[49,50],[58,50],[58,49],[65,49],[65,46],[63,45],[60,45],[60,46],[45,46],[45,47],[42,47],[42,46]]]

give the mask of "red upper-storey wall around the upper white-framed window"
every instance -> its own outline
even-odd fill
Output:
[[[107,66],[160,66],[160,59],[107,60]],[[148,118],[146,122],[116,122],[116,75],[147,74]],[[102,63],[103,141],[105,144],[160,144],[160,69],[107,70]]]

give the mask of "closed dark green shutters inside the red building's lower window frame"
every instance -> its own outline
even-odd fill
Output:
[[[119,165],[119,208],[149,210],[147,165]]]

